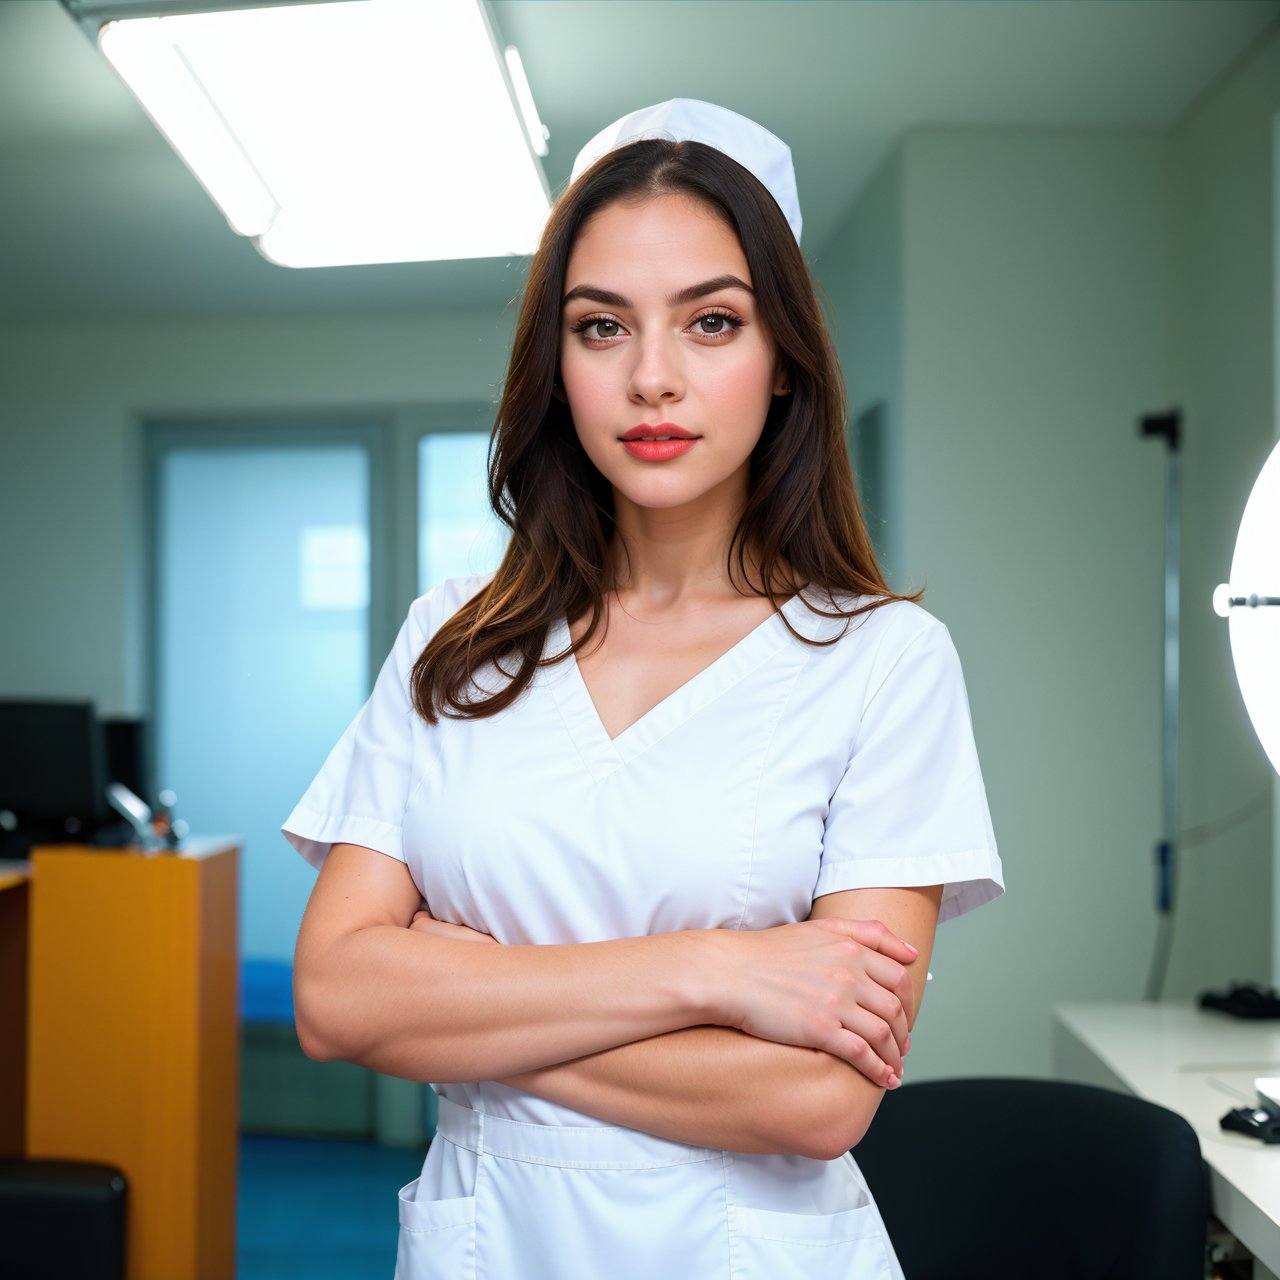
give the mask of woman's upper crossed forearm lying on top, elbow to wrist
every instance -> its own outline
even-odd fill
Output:
[[[388,1075],[499,1079],[713,1021],[707,951],[692,932],[475,946],[372,925],[296,968],[298,1034]]]

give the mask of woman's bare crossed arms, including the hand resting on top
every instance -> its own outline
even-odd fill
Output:
[[[503,946],[421,913],[403,863],[339,844],[298,934],[298,1039],[695,1146],[829,1160],[901,1073],[941,893],[828,893],[773,929]]]

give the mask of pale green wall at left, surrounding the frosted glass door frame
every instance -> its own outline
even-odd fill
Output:
[[[385,654],[416,594],[416,435],[460,412],[493,425],[511,332],[492,312],[0,329],[0,692],[147,710],[140,421],[155,417],[389,420]]]

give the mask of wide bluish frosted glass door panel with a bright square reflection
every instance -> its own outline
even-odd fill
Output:
[[[369,696],[369,458],[357,445],[166,451],[156,783],[234,833],[241,952],[292,960],[315,872],[280,823]]]

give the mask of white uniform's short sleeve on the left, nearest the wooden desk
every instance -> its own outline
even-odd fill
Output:
[[[365,845],[401,861],[404,809],[413,774],[408,677],[426,645],[421,618],[429,596],[413,602],[369,700],[329,753],[280,828],[317,870],[332,845]]]

